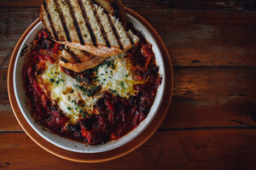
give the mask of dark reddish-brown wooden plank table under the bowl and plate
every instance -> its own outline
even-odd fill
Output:
[[[113,161],[77,163],[32,142],[9,105],[7,72],[40,0],[0,1],[1,169],[255,169],[256,2],[123,0],[171,55],[172,105],[156,133]]]

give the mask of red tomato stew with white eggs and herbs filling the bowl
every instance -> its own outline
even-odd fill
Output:
[[[23,68],[32,116],[52,133],[86,144],[105,144],[130,133],[148,116],[162,77],[152,46],[134,47],[86,71],[59,65],[64,46],[40,31]]]

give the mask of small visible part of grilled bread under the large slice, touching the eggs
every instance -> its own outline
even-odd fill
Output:
[[[107,57],[100,57],[77,48],[64,48],[60,54],[59,64],[69,70],[81,72],[96,67]]]

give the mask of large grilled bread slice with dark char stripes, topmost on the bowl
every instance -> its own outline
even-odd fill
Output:
[[[109,57],[138,41],[113,15],[90,0],[44,0],[40,19],[55,42]]]

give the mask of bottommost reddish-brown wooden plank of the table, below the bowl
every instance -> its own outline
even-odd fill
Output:
[[[77,163],[34,144],[26,133],[0,133],[3,169],[254,169],[256,129],[157,131],[142,147],[117,160]]]

